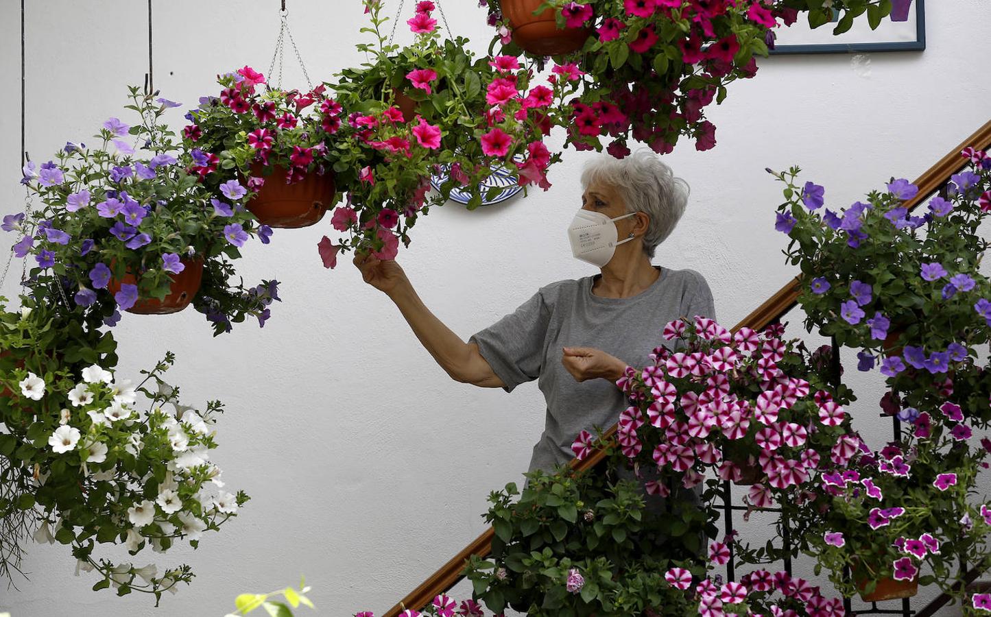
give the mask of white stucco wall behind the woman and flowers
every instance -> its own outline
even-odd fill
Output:
[[[23,205],[19,4],[0,2],[0,215]],[[107,117],[125,119],[125,86],[140,84],[147,67],[147,6],[27,4],[27,148],[45,160],[66,140],[86,141]],[[358,0],[289,0],[288,7],[311,76],[364,59],[353,48]],[[476,41],[477,51],[488,46],[491,31],[476,2],[447,0],[444,8],[456,34]],[[266,70],[276,13],[275,0],[157,0],[156,86],[190,104],[213,93],[218,72],[246,63]],[[988,119],[991,2],[930,0],[927,24],[925,52],[762,59],[755,79],[733,84],[709,111],[716,149],[698,153],[685,143],[666,156],[693,192],[656,262],[703,272],[725,325],[794,275],[781,256],[784,236],[773,229],[779,184],[764,167],[800,164],[838,208],[891,176],[915,178]],[[302,85],[291,57],[286,85]],[[571,257],[564,233],[580,206],[578,175],[588,158],[569,151],[547,193],[476,212],[451,205],[417,225],[399,260],[455,332],[467,339],[539,286],[592,273]],[[197,572],[193,585],[156,610],[141,594],[92,592],[94,578],[72,576],[67,547],[33,545],[24,564],[31,579],[18,581],[20,591],[0,586],[0,612],[219,616],[238,593],[294,583],[300,573],[314,586],[317,614],[380,612],[483,531],[490,490],[517,479],[529,461],[543,426],[540,392],[535,384],[506,395],[452,382],[348,259],[333,271],[322,267],[315,245],[329,232],[328,223],[276,230],[272,245],[244,251],[247,280],[282,281],[284,302],[264,330],[243,324],[212,339],[191,310],[128,315],[116,330],[124,374],[137,377],[171,350],[178,361],[168,377],[187,402],[228,404],[214,459],[252,501],[199,550],[136,559],[138,566],[188,563]],[[0,238],[0,254],[12,240]],[[19,264],[12,269],[0,289],[8,297]],[[801,334],[801,317],[790,321]],[[853,365],[847,375],[861,396],[858,426],[880,444],[890,425],[877,418],[879,375],[865,377]]]

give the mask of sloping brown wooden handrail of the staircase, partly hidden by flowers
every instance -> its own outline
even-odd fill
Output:
[[[923,203],[923,200],[936,192],[951,176],[962,169],[967,161],[960,155],[960,151],[966,147],[976,149],[986,149],[991,147],[991,120],[984,124],[973,135],[960,142],[960,144],[940,158],[935,165],[930,167],[925,173],[915,181],[919,187],[919,193],[915,197],[905,202],[909,210]],[[743,318],[740,323],[733,327],[733,331],[747,327],[754,330],[762,330],[775,320],[781,319],[786,313],[795,307],[799,297],[799,279],[793,278],[788,281],[773,296],[757,307],[752,313]],[[611,436],[616,430],[615,425],[607,432],[606,436]],[[574,459],[569,463],[574,469],[584,471],[603,463],[606,460],[606,452],[597,450],[584,461]],[[492,553],[493,538],[495,530],[489,528],[481,536],[475,539],[470,545],[454,556],[447,564],[434,572],[429,578],[424,580],[418,587],[413,589],[406,597],[390,608],[383,617],[397,617],[403,610],[409,608],[420,610],[429,604],[434,596],[444,593],[453,587],[464,577],[465,561],[473,555],[488,557]]]

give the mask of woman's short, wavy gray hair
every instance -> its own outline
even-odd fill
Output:
[[[671,167],[646,148],[625,158],[604,155],[591,161],[582,172],[583,190],[593,183],[615,189],[627,212],[650,217],[643,237],[643,251],[650,258],[674,231],[688,205],[688,182],[675,177]]]

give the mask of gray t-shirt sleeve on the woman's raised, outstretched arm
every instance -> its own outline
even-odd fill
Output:
[[[520,383],[540,376],[550,309],[537,292],[512,313],[468,340],[511,392]]]

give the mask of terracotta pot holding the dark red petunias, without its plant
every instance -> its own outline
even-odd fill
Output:
[[[308,227],[322,219],[327,208],[334,205],[337,185],[333,171],[307,173],[298,182],[286,184],[284,167],[275,165],[268,176],[262,173],[263,169],[261,163],[252,163],[251,174],[264,177],[265,184],[247,204],[263,225],[283,229]]]

